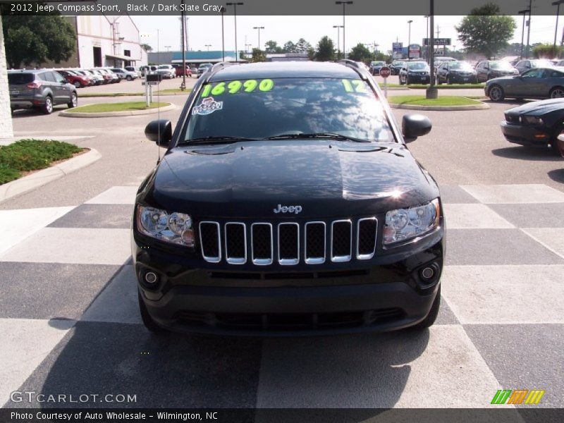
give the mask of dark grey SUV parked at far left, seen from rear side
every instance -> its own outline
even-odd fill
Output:
[[[50,114],[57,104],[78,104],[76,87],[55,71],[8,71],[8,90],[12,110],[34,107]]]

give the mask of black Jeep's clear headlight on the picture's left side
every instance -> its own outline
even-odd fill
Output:
[[[194,247],[192,219],[188,214],[168,214],[165,210],[137,205],[137,229],[167,243]]]

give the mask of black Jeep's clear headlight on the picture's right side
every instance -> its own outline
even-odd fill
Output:
[[[439,199],[409,209],[397,209],[386,213],[384,245],[415,238],[439,226],[441,209]]]

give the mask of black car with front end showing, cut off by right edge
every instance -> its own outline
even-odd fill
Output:
[[[558,150],[558,135],[564,131],[564,99],[530,102],[505,111],[501,122],[505,139],[520,145],[550,146]]]

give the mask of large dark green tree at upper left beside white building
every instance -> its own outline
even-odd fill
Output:
[[[76,34],[68,20],[55,14],[12,15],[1,8],[6,61],[11,68],[68,60],[76,47]],[[18,12],[21,13],[21,12]]]

